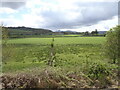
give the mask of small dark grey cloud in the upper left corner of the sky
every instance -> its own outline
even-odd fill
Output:
[[[25,5],[26,2],[1,2],[1,7],[7,7],[11,9],[18,9]]]

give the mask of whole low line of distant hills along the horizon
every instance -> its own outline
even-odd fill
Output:
[[[24,38],[24,37],[48,37],[48,35],[70,35],[70,34],[78,34],[83,35],[82,32],[76,31],[55,31],[43,28],[31,28],[31,27],[6,27],[8,29],[8,33],[10,38]],[[106,31],[98,31],[99,35],[105,35]],[[90,35],[89,35],[90,36]]]

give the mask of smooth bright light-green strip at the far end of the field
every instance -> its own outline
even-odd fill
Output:
[[[51,44],[52,38],[21,38],[10,39],[8,43],[14,44]],[[103,44],[105,37],[58,37],[55,44]]]

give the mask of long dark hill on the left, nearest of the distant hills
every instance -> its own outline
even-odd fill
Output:
[[[51,35],[52,31],[42,28],[30,28],[30,27],[6,27],[8,29],[10,37],[26,37],[34,35]]]

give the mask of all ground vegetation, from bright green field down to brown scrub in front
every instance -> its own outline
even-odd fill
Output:
[[[118,88],[119,67],[106,57],[105,42],[106,37],[9,39],[3,87]]]

